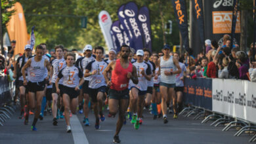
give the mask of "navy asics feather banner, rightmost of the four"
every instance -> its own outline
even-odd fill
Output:
[[[138,19],[140,21],[140,26],[143,29],[143,41],[144,47],[148,48],[152,52],[152,37],[151,37],[151,25],[150,25],[150,11],[147,7],[142,7],[139,10]]]

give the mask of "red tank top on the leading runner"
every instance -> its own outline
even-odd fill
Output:
[[[127,69],[121,67],[120,59],[116,60],[116,68],[112,70],[110,86],[113,90],[125,90],[129,86],[129,79],[127,78],[127,73],[133,72],[133,64],[129,62]]]

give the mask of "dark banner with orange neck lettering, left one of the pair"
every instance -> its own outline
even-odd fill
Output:
[[[188,18],[186,16],[186,1],[172,0],[175,17],[181,31],[182,40],[186,51],[189,51],[188,45]]]

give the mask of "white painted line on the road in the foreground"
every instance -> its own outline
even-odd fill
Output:
[[[89,144],[85,132],[83,132],[83,127],[81,126],[76,115],[70,117],[70,125],[72,129],[74,144]]]

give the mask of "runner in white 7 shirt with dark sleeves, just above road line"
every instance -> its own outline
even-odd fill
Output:
[[[56,92],[60,94],[60,88],[58,82],[63,78],[63,86],[61,88],[62,98],[65,107],[65,120],[67,124],[66,132],[71,132],[70,126],[70,109],[73,115],[75,115],[75,111],[77,108],[77,96],[79,95],[79,86],[81,86],[84,82],[83,72],[78,67],[74,66],[75,62],[75,54],[72,52],[68,52],[65,56],[66,67],[60,70],[58,73],[58,78],[55,81]],[[80,80],[79,80],[80,79]]]

